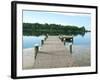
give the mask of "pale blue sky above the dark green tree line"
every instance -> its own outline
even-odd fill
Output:
[[[24,23],[48,23],[61,25],[84,26],[87,30],[91,28],[90,14],[46,12],[46,11],[23,11]]]

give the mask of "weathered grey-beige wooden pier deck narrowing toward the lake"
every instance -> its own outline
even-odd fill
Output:
[[[72,38],[72,37],[71,37]],[[37,53],[33,68],[60,68],[76,66],[70,51],[58,36],[48,36]]]

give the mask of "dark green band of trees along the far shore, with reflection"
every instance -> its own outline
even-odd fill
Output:
[[[84,26],[60,24],[23,23],[23,35],[84,35],[87,30]]]

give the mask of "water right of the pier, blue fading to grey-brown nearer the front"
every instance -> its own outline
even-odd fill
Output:
[[[70,46],[71,45],[71,46]],[[70,52],[76,66],[91,65],[91,35],[86,33],[84,36],[78,35],[74,37],[74,42],[68,45],[65,43],[66,49]]]

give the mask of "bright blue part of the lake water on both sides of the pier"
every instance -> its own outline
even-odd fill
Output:
[[[36,45],[41,46],[41,40],[43,40],[45,36],[23,36],[23,48],[31,48]],[[90,46],[90,33],[86,33],[84,36],[78,35],[74,37],[73,45],[80,45],[83,47]],[[65,44],[67,46],[67,42]]]

